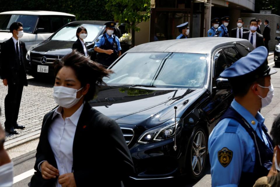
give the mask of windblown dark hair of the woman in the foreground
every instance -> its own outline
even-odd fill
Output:
[[[109,77],[109,75],[113,73],[112,70],[107,70],[103,65],[90,60],[89,57],[85,57],[76,49],[60,60],[55,60],[55,76],[63,66],[71,67],[74,70],[82,87],[86,84],[90,84],[88,93],[85,95],[85,101],[93,99],[96,86],[100,86],[101,84],[106,85],[102,80],[103,77]]]

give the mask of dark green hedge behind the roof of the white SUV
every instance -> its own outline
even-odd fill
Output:
[[[1,0],[0,12],[5,11],[57,11],[76,15],[76,20],[113,20],[107,11],[107,0]]]

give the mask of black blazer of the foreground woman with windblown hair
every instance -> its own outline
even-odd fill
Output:
[[[53,151],[48,141],[48,129],[53,122],[54,110],[44,116],[37,147],[36,172],[31,178],[31,187],[50,187],[55,179],[43,179],[38,164],[47,160],[57,168]],[[73,173],[77,187],[121,186],[122,179],[133,174],[132,158],[118,124],[85,103],[73,142]]]

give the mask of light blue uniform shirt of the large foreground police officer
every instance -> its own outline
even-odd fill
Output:
[[[251,125],[262,141],[269,146],[267,138],[261,129],[265,121],[262,115],[258,112],[256,117],[254,117],[235,100],[232,101],[231,106],[244,117],[246,122]],[[212,186],[237,187],[241,172],[253,172],[254,169],[254,142],[241,124],[238,125],[235,133],[225,132],[230,120],[232,119],[225,118],[221,120],[209,136],[208,150],[211,164]],[[254,125],[252,121],[255,121]],[[226,167],[223,167],[218,159],[218,152],[223,148],[232,151],[232,160]]]

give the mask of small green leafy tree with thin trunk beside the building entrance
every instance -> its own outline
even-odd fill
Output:
[[[137,25],[150,19],[150,0],[107,0],[106,9],[113,13],[115,21],[127,23],[134,45],[134,31],[140,31]]]

